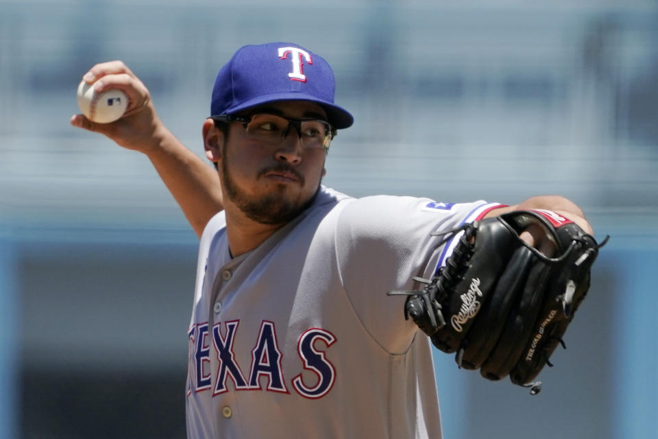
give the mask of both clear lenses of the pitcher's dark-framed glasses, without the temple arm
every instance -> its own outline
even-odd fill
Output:
[[[306,148],[327,148],[331,143],[331,126],[319,120],[291,120],[276,115],[253,115],[247,134],[257,141],[278,144],[289,134],[290,126],[297,131]]]

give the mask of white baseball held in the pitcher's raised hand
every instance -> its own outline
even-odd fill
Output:
[[[117,89],[96,93],[92,84],[82,81],[77,86],[77,105],[90,121],[110,123],[123,116],[128,97]]]

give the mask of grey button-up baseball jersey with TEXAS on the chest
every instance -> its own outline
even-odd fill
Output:
[[[428,337],[386,293],[417,286],[411,277],[449,254],[430,233],[496,206],[321,187],[236,258],[215,215],[188,330],[188,437],[440,438]]]

